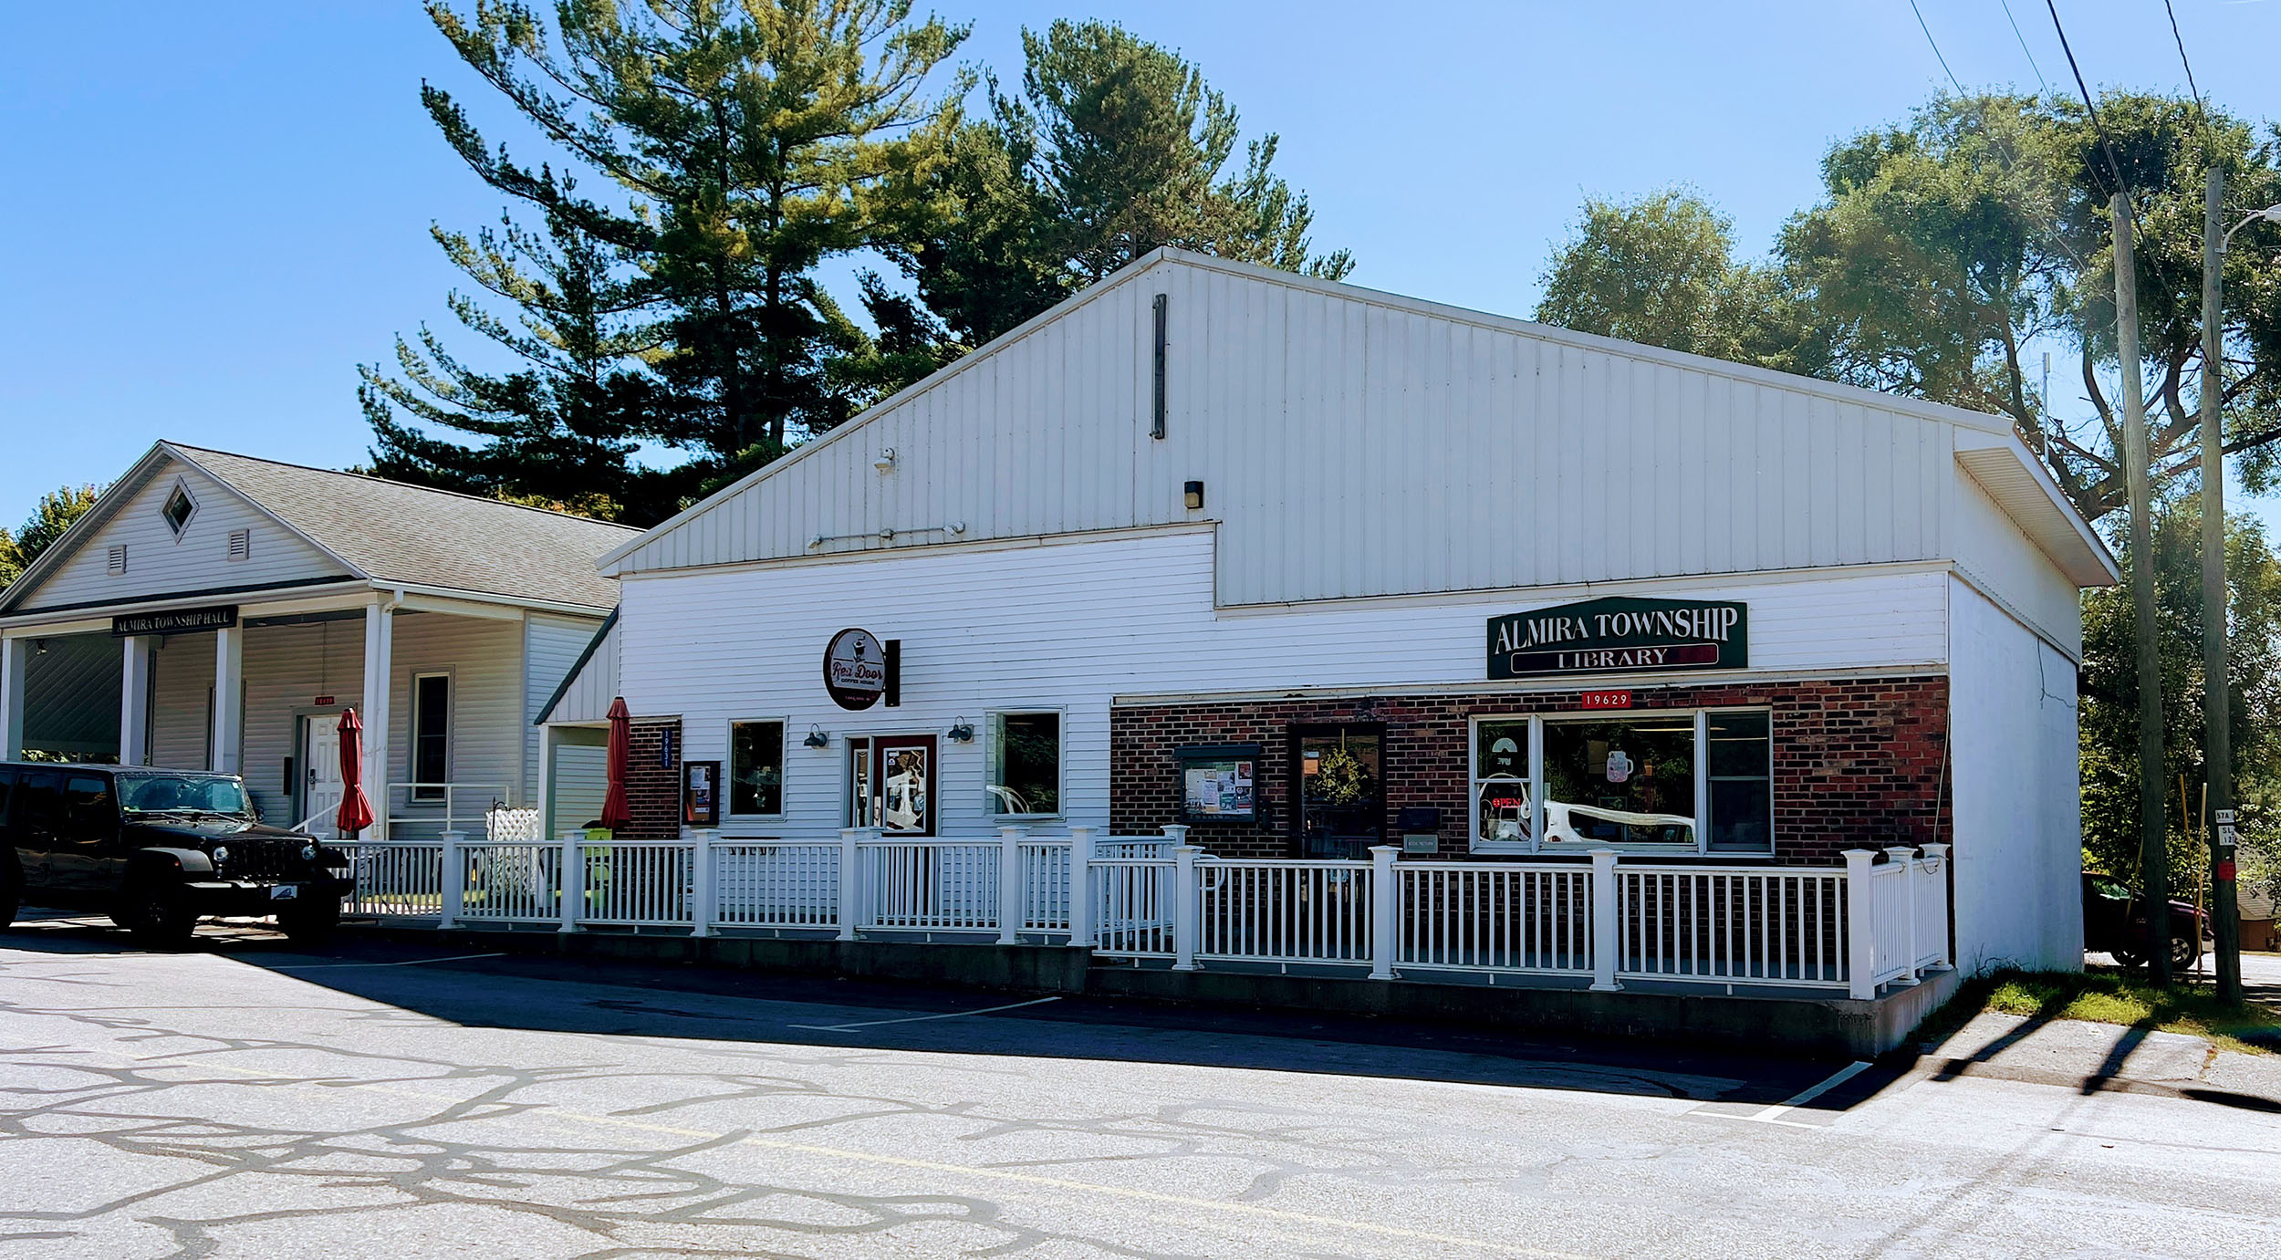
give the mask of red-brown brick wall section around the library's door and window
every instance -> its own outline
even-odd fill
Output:
[[[1775,858],[1827,863],[1838,851],[1948,840],[1939,790],[1948,733],[1946,678],[1834,678],[1633,689],[1633,705],[1763,705],[1775,730]],[[1314,696],[1118,708],[1109,717],[1109,826],[1152,833],[1179,819],[1172,751],[1259,744],[1261,824],[1202,822],[1188,835],[1223,856],[1291,856],[1289,728],[1382,721],[1387,817],[1442,810],[1442,856],[1464,856],[1471,826],[1467,740],[1474,714],[1576,712],[1565,694]],[[1939,801],[1939,819],[1934,819]]]

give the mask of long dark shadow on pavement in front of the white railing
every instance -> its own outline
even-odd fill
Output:
[[[141,954],[100,918],[41,918],[39,911],[27,918],[34,922],[0,934],[0,950],[87,959]],[[1743,1105],[1784,1102],[1843,1066],[1350,1016],[481,954],[465,945],[440,950],[356,934],[303,950],[253,924],[205,924],[189,952],[454,1025],[588,1036],[1186,1064]],[[1880,1064],[1800,1109],[1843,1112],[1896,1075],[1898,1068]]]

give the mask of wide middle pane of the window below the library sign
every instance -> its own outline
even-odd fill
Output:
[[[1549,845],[1695,845],[1695,714],[1544,724]]]

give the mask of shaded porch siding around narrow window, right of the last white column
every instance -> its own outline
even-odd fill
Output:
[[[395,616],[395,678],[390,680],[388,778],[411,781],[413,676],[452,676],[452,783],[504,785],[522,806],[522,623],[440,612]],[[374,799],[379,808],[379,799]],[[401,799],[399,799],[401,808]]]

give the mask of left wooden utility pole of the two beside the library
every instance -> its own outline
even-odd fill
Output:
[[[2130,199],[2114,192],[2114,333],[2124,370],[2124,484],[2130,491],[2130,603],[2140,680],[2140,863],[2146,883],[2146,966],[2169,988],[2169,819],[2162,815],[2162,662],[2156,653],[2153,491],[2146,484],[2146,383],[2137,354],[2137,251]]]

